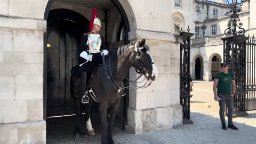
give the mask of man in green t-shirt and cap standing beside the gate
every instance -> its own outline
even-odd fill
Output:
[[[213,93],[214,100],[219,101],[220,106],[220,120],[222,129],[227,130],[225,122],[225,103],[228,107],[228,128],[238,130],[233,124],[233,107],[234,107],[234,94],[236,92],[236,82],[232,74],[228,72],[229,65],[225,62],[220,64],[222,72],[218,73],[214,78]]]

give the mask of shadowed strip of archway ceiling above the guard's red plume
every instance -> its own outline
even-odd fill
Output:
[[[112,9],[115,5],[110,0],[57,0],[56,2],[97,9]]]

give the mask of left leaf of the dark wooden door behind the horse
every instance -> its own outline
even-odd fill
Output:
[[[60,21],[47,27],[47,116],[65,114],[66,45]]]

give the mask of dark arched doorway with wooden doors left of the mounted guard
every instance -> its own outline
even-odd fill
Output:
[[[74,114],[69,89],[70,70],[78,65],[80,39],[90,25],[83,15],[67,9],[49,12],[47,20],[47,117]]]

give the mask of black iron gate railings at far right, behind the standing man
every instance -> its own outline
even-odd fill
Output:
[[[245,103],[246,111],[256,110],[256,78],[255,78],[255,68],[256,68],[256,41],[254,36],[249,38],[246,43],[246,86],[245,91]]]

